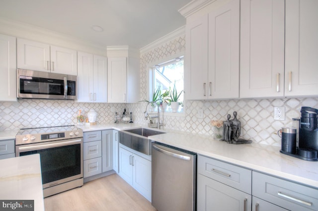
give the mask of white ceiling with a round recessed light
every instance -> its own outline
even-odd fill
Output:
[[[0,17],[97,45],[142,48],[185,25],[177,11],[191,0],[0,0]],[[93,25],[103,32],[95,32]]]

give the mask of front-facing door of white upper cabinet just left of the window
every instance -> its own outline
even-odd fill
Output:
[[[127,101],[127,58],[108,58],[108,103]]]

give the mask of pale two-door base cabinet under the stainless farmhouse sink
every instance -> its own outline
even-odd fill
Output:
[[[118,175],[151,202],[150,155],[142,155],[120,144]]]

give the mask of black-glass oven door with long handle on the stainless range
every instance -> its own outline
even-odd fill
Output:
[[[82,138],[17,145],[15,152],[40,154],[43,189],[83,177]]]

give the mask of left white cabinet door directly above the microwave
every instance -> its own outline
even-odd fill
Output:
[[[17,68],[50,72],[50,45],[17,38]]]

